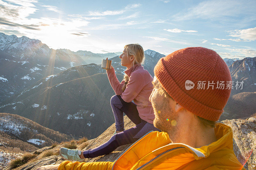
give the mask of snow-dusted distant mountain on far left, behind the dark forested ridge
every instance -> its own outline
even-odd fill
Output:
[[[94,54],[88,51],[73,52],[68,49],[52,49],[36,39],[0,33],[0,103],[13,94],[23,91],[46,76],[68,68],[101,63],[105,56],[114,53]],[[98,56],[90,59],[90,56]]]

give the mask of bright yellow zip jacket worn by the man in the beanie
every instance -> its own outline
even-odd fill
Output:
[[[64,161],[58,170],[244,169],[233,151],[232,129],[218,123],[217,141],[201,148],[170,143],[167,133],[150,132],[133,143],[115,162]]]

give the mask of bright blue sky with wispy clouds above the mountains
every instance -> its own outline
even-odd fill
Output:
[[[139,43],[168,55],[205,47],[222,58],[256,56],[256,0],[0,0],[0,32],[50,48],[93,53]]]

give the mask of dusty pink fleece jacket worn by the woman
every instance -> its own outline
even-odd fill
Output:
[[[153,124],[155,115],[151,102],[149,101],[149,96],[154,88],[152,85],[153,77],[140,64],[135,64],[124,72],[129,76],[129,81],[124,92],[122,92],[124,80],[121,83],[118,81],[114,68],[107,70],[110,85],[116,95],[121,95],[125,102],[131,102],[133,100],[137,105],[141,119]]]

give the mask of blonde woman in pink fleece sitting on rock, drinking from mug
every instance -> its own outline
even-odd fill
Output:
[[[85,158],[109,154],[121,145],[134,143],[151,130],[161,131],[153,125],[155,115],[149,101],[153,77],[141,66],[145,59],[143,48],[139,44],[126,45],[119,58],[121,65],[127,67],[123,81],[118,81],[113,66],[107,70],[110,85],[116,93],[110,100],[116,121],[114,135],[108,142],[86,151],[60,148],[62,158],[81,162]],[[125,130],[123,113],[136,126]]]

